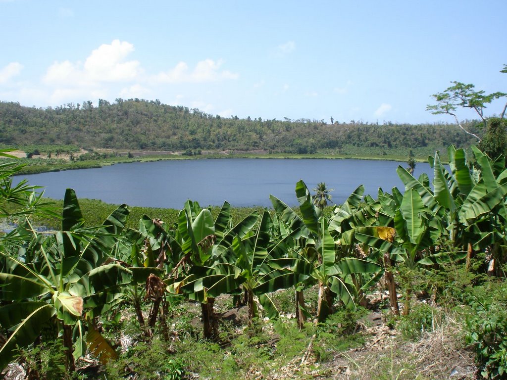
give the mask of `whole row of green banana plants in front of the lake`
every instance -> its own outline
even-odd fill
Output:
[[[271,196],[271,213],[253,211],[234,225],[227,202],[213,217],[187,201],[173,225],[144,215],[136,228],[126,227],[129,210],[122,205],[102,225],[87,226],[75,192],[67,189],[61,230],[49,233],[34,229],[33,218],[54,216],[50,205],[26,182],[12,185],[20,166],[2,164],[0,216],[18,224],[0,237],[0,369],[19,347],[59,338],[70,370],[87,350],[102,363],[118,358],[97,318],[125,305],[150,338],[158,324],[167,324],[168,297],[196,300],[203,336],[216,340],[213,303],[222,294],[244,297],[253,324],[261,313],[278,319],[274,292],[294,289],[303,327],[307,319],[324,322],[336,307],[354,309],[382,278],[391,311],[399,314],[400,267],[430,274],[457,260],[468,267],[476,252],[486,252],[488,272],[500,275],[506,261],[505,160],[492,161],[475,147],[473,152],[472,165],[463,149],[451,146],[450,171],[438,153],[430,158],[432,185],[426,174],[415,178],[400,166],[404,194],[379,189],[373,199],[364,197],[360,185],[330,216],[300,180],[299,213]],[[12,203],[20,207],[12,211]],[[312,286],[318,286],[315,315],[303,296]],[[411,293],[409,280],[403,314],[410,311]],[[145,302],[148,313],[141,308]],[[502,345],[501,339],[489,345],[490,354],[500,353],[494,359],[478,353],[487,370],[500,376],[507,368]]]

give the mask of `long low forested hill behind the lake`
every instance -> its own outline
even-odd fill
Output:
[[[478,122],[465,123],[478,132]],[[480,132],[480,131],[479,131]],[[0,144],[74,144],[86,148],[149,150],[273,150],[316,153],[344,147],[444,150],[476,142],[451,124],[368,124],[300,119],[239,119],[160,101],[100,100],[57,108],[30,108],[0,102]]]

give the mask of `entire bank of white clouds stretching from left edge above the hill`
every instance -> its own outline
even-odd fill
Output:
[[[54,61],[46,66],[45,70],[43,69],[43,74],[37,83],[18,81],[12,82],[12,86],[0,86],[0,98],[19,99],[26,104],[45,106],[68,102],[81,103],[88,99],[96,102],[99,98],[150,99],[166,96],[175,98],[175,102],[180,104],[185,100],[188,105],[193,98],[191,94],[184,96],[181,90],[164,86],[164,84],[220,83],[239,78],[237,73],[225,69],[225,62],[221,59],[204,59],[196,61],[194,65],[188,65],[182,60],[168,71],[159,74],[145,73],[140,62],[131,59],[133,52],[132,44],[114,40],[98,46],[79,60]],[[12,78],[19,74],[22,68],[23,66],[17,62],[0,67],[0,85],[11,84]],[[178,92],[173,94],[169,92],[169,95],[164,95],[164,91]],[[216,111],[215,107],[206,100],[212,99],[215,92],[210,91],[209,94],[207,96],[201,89],[197,95],[198,99],[203,95],[206,95],[206,98],[200,99],[203,100],[202,102],[194,102],[193,107],[204,112]],[[229,112],[229,110],[226,111]]]

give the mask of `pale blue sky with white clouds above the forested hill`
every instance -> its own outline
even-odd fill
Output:
[[[425,110],[450,81],[507,92],[506,11],[505,0],[0,0],[0,100],[452,123]]]

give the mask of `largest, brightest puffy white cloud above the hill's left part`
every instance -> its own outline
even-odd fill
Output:
[[[125,61],[134,51],[128,42],[114,40],[91,52],[84,64],[68,60],[54,62],[47,70],[43,81],[48,85],[94,86],[103,82],[127,82],[142,73],[138,61]]]

